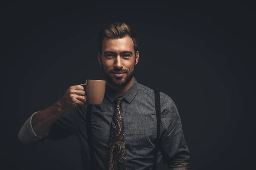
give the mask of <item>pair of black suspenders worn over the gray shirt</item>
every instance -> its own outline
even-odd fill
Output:
[[[155,95],[155,108],[156,108],[156,115],[157,115],[157,139],[154,149],[154,164],[153,170],[157,169],[157,157],[158,157],[158,150],[159,150],[159,136],[160,136],[160,123],[161,123],[161,115],[160,115],[160,92],[154,90]],[[87,105],[86,111],[86,128],[87,128],[87,137],[88,137],[88,144],[89,144],[89,151],[90,151],[90,161],[91,167],[89,169],[96,170],[96,160],[93,159],[94,157],[94,150],[93,150],[93,142],[92,142],[92,130],[91,130],[91,114],[92,114],[92,105]]]

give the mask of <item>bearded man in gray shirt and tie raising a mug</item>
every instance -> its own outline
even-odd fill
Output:
[[[154,91],[134,78],[138,39],[127,24],[111,23],[101,29],[98,60],[106,89],[103,103],[92,107],[92,160],[100,170],[151,170],[157,136]],[[58,102],[29,117],[20,129],[20,141],[58,140],[74,134],[81,144],[84,168],[90,168],[84,95],[83,85],[68,88]],[[160,106],[157,162],[163,158],[170,170],[187,170],[189,150],[176,105],[160,92]]]

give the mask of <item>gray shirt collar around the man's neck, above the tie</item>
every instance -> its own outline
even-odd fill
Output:
[[[134,99],[138,92],[138,82],[134,78],[134,83],[129,88],[128,91],[125,92],[125,94],[122,96],[128,103],[131,103],[131,101]],[[116,91],[113,91],[111,88],[106,85],[105,88],[105,95],[108,97],[108,99],[111,100],[111,102],[114,102],[114,100],[118,97],[118,94],[116,94]]]

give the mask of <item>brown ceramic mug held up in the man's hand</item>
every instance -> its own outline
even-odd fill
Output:
[[[81,84],[84,86],[84,84]],[[85,96],[87,96],[87,104],[101,105],[105,95],[105,80],[87,79],[85,87]]]

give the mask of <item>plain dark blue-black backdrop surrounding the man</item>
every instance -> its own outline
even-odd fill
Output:
[[[137,31],[135,77],[175,101],[193,169],[254,169],[255,11],[230,2],[2,1],[0,169],[82,169],[74,136],[23,144],[18,132],[71,85],[103,79],[97,34],[108,21]]]

